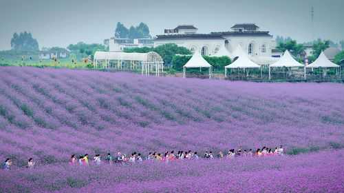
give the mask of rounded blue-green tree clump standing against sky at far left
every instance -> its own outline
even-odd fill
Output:
[[[21,50],[21,51],[38,51],[39,43],[36,39],[32,37],[32,34],[29,32],[21,32],[17,34],[15,32],[11,39],[11,48],[12,50]]]

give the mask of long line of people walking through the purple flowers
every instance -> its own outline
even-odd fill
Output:
[[[157,153],[157,152],[149,152],[147,157],[142,157],[140,153],[133,152],[130,155],[122,154],[118,152],[116,156],[112,156],[110,153],[100,156],[100,154],[96,154],[93,158],[92,163],[95,165],[100,165],[103,162],[109,165],[112,164],[119,164],[119,165],[127,165],[127,164],[134,164],[134,163],[142,163],[142,161],[156,161],[156,162],[164,162],[169,163],[171,161],[178,161],[178,160],[197,160],[197,159],[234,159],[235,157],[239,156],[274,156],[274,155],[283,155],[283,147],[280,145],[275,149],[272,148],[259,148],[256,151],[252,149],[246,150],[239,148],[237,150],[231,149],[228,152],[224,153],[220,151],[218,154],[214,155],[212,151],[206,151],[202,156],[200,156],[197,152],[189,151],[178,151],[175,153],[174,151],[171,152],[164,152],[164,154]],[[89,165],[89,154],[84,154],[80,156],[76,156],[73,154],[69,159],[70,165]],[[26,167],[33,168],[35,166],[35,162],[32,158],[28,160],[28,165]],[[8,158],[3,163],[3,170],[10,170],[12,167],[12,159]]]

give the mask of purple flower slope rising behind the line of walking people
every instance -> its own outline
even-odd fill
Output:
[[[2,67],[0,159],[344,141],[344,85],[249,83]]]

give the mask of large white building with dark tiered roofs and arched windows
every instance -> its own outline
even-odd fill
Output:
[[[162,35],[157,35],[154,39],[154,47],[165,43],[175,43],[188,48],[191,52],[212,55],[222,45],[225,45],[229,52],[233,52],[237,45],[240,45],[252,60],[259,61],[260,64],[270,63],[270,58],[274,55],[272,49],[276,47],[276,42],[268,31],[260,31],[259,27],[253,23],[235,24],[230,29],[228,32],[197,34],[197,28],[194,26],[178,26],[173,30],[164,30]],[[278,56],[275,55],[275,57]]]

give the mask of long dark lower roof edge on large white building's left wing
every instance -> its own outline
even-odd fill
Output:
[[[169,40],[169,39],[224,39],[222,34],[163,34],[157,35],[154,39],[159,40]]]

